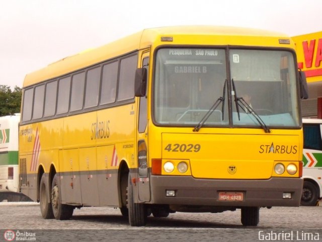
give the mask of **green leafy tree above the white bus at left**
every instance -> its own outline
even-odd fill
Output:
[[[14,91],[10,86],[0,85],[0,116],[20,112],[22,89],[15,86]]]

